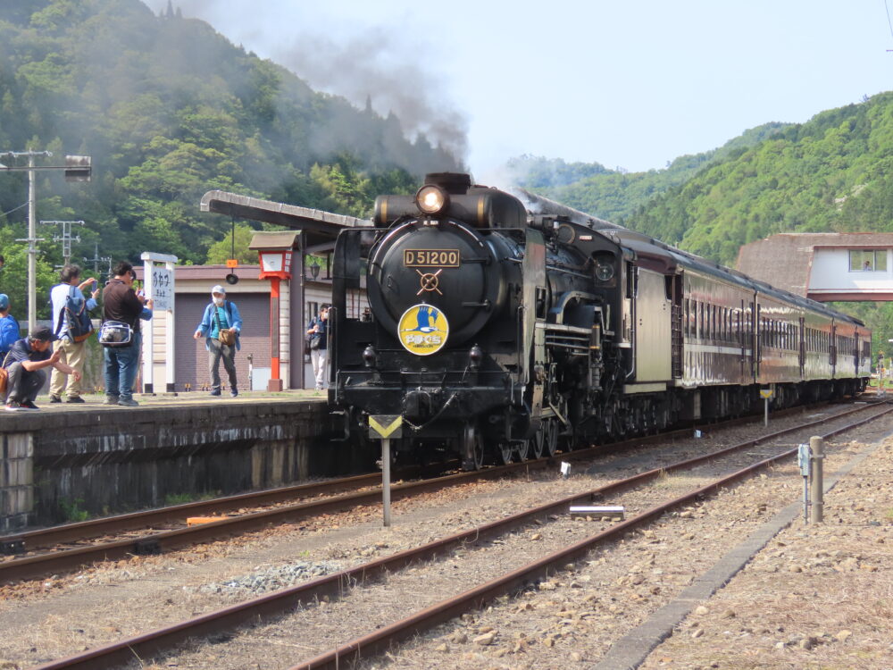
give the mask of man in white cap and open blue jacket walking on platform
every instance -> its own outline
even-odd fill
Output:
[[[195,339],[204,338],[208,350],[208,370],[211,373],[211,395],[221,394],[221,359],[230,377],[230,396],[238,396],[236,385],[236,351],[240,348],[238,334],[242,331],[242,317],[235,303],[226,299],[226,289],[220,284],[211,289],[211,304],[205,307]]]

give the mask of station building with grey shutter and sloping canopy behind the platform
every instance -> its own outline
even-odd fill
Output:
[[[204,308],[211,300],[211,288],[221,284],[227,297],[237,303],[242,316],[241,349],[236,356],[236,371],[241,389],[264,390],[272,377],[271,361],[279,359],[279,378],[282,389],[313,388],[313,366],[305,353],[306,324],[319,314],[322,305],[331,303],[331,253],[338,231],[371,222],[352,216],[331,214],[321,210],[287,205],[254,197],[240,196],[225,191],[209,191],[201,201],[204,212],[223,214],[230,219],[274,223],[287,230],[262,232],[255,235],[257,247],[274,247],[288,252],[288,272],[280,272],[277,281],[278,300],[271,300],[273,282],[263,277],[263,266],[240,265],[177,265],[174,268],[174,382],[168,391],[204,390],[210,386],[207,352],[204,339],[192,338],[202,319]],[[252,247],[255,247],[255,240]],[[263,252],[259,252],[263,253]],[[308,258],[325,258],[327,262],[307,263]],[[135,267],[138,280],[143,279],[143,266]],[[269,270],[269,268],[268,268]],[[233,273],[238,283],[228,284],[226,277]],[[263,277],[263,278],[262,278]],[[278,348],[273,356],[271,305],[278,305]],[[355,317],[363,314],[368,302],[365,287],[348,299],[348,309]],[[166,333],[169,313],[154,314],[154,379],[165,379],[165,352],[168,350]],[[145,336],[144,336],[145,337]],[[152,390],[164,390],[154,383]],[[141,383],[140,389],[146,390]]]

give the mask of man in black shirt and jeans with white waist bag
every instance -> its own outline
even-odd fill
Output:
[[[103,290],[103,319],[126,323],[133,331],[127,347],[105,347],[105,403],[136,407],[133,399],[133,382],[137,379],[139,364],[139,321],[144,314],[146,297],[133,290],[136,273],[127,261],[120,261],[112,271],[114,276]]]

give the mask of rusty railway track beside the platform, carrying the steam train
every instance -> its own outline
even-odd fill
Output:
[[[794,407],[775,416],[811,411],[812,407]],[[856,411],[867,406],[858,406]],[[701,425],[711,430],[755,422],[758,417],[740,417],[721,423]],[[692,428],[638,437],[610,445],[575,450],[561,454],[565,461],[577,461],[597,456],[610,448],[612,453],[638,448],[660,440],[687,437]],[[539,458],[523,463],[500,465],[470,473],[454,473],[417,482],[405,482],[391,487],[392,500],[421,493],[442,490],[467,482],[492,480],[513,473],[530,473],[552,467],[555,458]],[[418,469],[407,469],[404,476],[418,474]],[[332,493],[345,491],[340,495]],[[300,503],[295,498],[317,498]],[[162,507],[129,515],[117,515],[81,523],[70,523],[32,532],[0,537],[0,548],[6,552],[29,552],[23,557],[7,558],[0,562],[0,584],[38,579],[49,574],[63,574],[100,561],[121,560],[131,556],[160,554],[174,549],[221,540],[240,533],[262,530],[278,523],[295,523],[314,516],[343,512],[354,507],[380,502],[380,473],[347,477],[329,482],[314,482],[274,490],[257,491],[227,498],[215,498],[173,507]],[[221,515],[249,507],[263,509],[238,515],[221,516],[219,521],[188,526],[190,516]],[[270,507],[272,506],[272,507]],[[158,526],[167,525],[159,530]],[[133,532],[149,532],[133,536]],[[125,535],[115,540],[105,539],[114,534]],[[100,540],[90,542],[89,540]],[[72,546],[75,545],[75,546]],[[43,552],[38,550],[44,549]]]

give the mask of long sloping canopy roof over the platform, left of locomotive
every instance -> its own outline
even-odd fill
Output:
[[[332,242],[338,237],[339,230],[372,224],[371,221],[357,219],[355,216],[240,196],[228,191],[208,191],[202,197],[200,207],[202,212],[227,214],[238,219],[275,223],[291,230],[303,230],[307,247]]]

